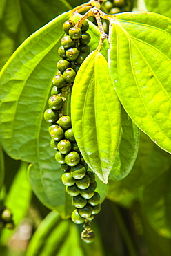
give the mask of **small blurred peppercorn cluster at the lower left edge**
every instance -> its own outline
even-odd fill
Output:
[[[0,230],[3,228],[14,229],[12,213],[6,206],[0,209]]]

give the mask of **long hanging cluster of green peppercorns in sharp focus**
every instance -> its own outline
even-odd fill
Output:
[[[71,118],[63,111],[66,103],[63,92],[71,91],[75,75],[90,53],[90,35],[86,32],[88,28],[87,21],[83,22],[81,28],[75,26],[71,20],[63,24],[66,35],[61,39],[58,50],[62,59],[57,62],[58,71],[52,80],[54,86],[44,118],[50,124],[50,145],[57,151],[55,159],[63,170],[61,180],[66,185],[66,192],[72,196],[72,205],[76,208],[72,212],[72,221],[77,224],[85,223],[81,238],[90,243],[94,241],[90,222],[94,214],[101,210],[100,196],[95,192],[97,183],[94,173],[88,170],[74,138]]]

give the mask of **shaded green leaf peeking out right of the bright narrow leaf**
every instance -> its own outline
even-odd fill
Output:
[[[137,158],[138,149],[139,129],[121,108],[121,141],[110,172],[110,179],[119,181],[129,174]]]

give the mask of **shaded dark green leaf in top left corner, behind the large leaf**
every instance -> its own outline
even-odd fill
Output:
[[[0,69],[26,37],[70,8],[66,0],[0,0]]]

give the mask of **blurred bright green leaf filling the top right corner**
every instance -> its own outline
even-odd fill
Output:
[[[157,12],[171,18],[170,0],[145,0],[149,12]]]

